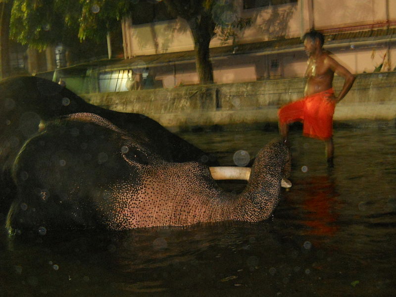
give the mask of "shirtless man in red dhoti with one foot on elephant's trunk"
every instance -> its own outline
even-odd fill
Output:
[[[279,132],[287,143],[289,124],[302,121],[303,135],[317,138],[326,144],[326,157],[330,166],[333,165],[333,114],[336,104],[348,93],[355,80],[344,66],[340,65],[324,50],[324,36],[311,30],[302,38],[305,52],[308,54],[308,67],[305,71],[307,82],[304,98],[283,106],[279,112]],[[345,83],[336,97],[333,91],[334,73],[344,77]]]

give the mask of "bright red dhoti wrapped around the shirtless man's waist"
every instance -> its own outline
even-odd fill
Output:
[[[289,103],[279,109],[279,122],[282,124],[303,122],[304,136],[327,140],[333,136],[333,114],[336,103],[328,100],[332,96],[334,96],[333,88]]]

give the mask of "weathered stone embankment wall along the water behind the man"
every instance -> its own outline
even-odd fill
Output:
[[[336,94],[343,79],[335,77]],[[278,108],[303,95],[305,79],[279,79],[239,84],[186,86],[82,95],[88,102],[121,112],[145,114],[171,130],[214,125],[276,123]],[[337,105],[335,121],[396,118],[396,72],[357,75]]]

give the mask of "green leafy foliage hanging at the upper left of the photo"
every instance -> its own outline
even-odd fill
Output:
[[[10,37],[38,49],[78,39],[100,41],[129,5],[128,0],[14,0]]]

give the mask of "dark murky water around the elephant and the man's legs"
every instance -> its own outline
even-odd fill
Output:
[[[224,165],[275,132],[183,134]],[[0,238],[0,296],[394,296],[396,131],[292,133],[293,188],[272,220]],[[240,191],[241,183],[224,184]]]

